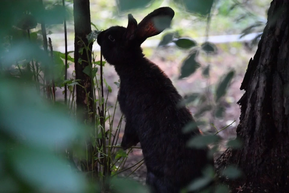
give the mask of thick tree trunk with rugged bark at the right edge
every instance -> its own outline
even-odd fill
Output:
[[[226,150],[217,170],[235,164],[244,176],[230,182],[233,192],[289,192],[289,1],[273,0],[268,23],[251,59],[238,101],[238,150]],[[241,192],[241,191],[240,191]]]

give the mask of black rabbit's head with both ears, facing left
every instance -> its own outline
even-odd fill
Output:
[[[111,65],[125,65],[143,57],[141,44],[148,37],[161,33],[170,26],[175,12],[169,7],[161,7],[138,24],[132,14],[128,14],[127,27],[113,26],[98,34],[97,43]]]

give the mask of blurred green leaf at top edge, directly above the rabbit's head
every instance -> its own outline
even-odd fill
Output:
[[[135,1],[135,0],[117,0],[117,7],[120,12],[129,11],[132,9],[139,9],[148,7],[151,5],[153,0],[141,0],[141,1]]]

